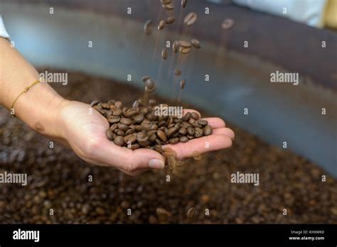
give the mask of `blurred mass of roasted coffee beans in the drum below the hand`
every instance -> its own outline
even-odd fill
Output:
[[[60,72],[52,68],[40,72],[46,70]],[[51,86],[67,99],[90,102],[118,97],[132,105],[133,97],[144,94],[125,82],[64,72],[68,72],[68,86]],[[159,97],[156,101],[173,104]],[[194,108],[186,103],[183,107]],[[204,111],[201,114],[210,116]],[[195,153],[198,160],[177,161],[180,175],[171,176],[168,182],[164,170],[129,177],[112,168],[90,165],[58,143],[50,148],[48,138],[12,119],[0,107],[0,172],[28,175],[27,186],[0,185],[0,222],[337,224],[335,178],[289,148],[271,146],[226,124],[235,131],[232,148],[207,153],[201,159]],[[260,185],[231,183],[230,175],[236,171],[260,173]],[[322,182],[322,175],[326,175],[326,182]],[[127,214],[128,209],[132,215]]]

